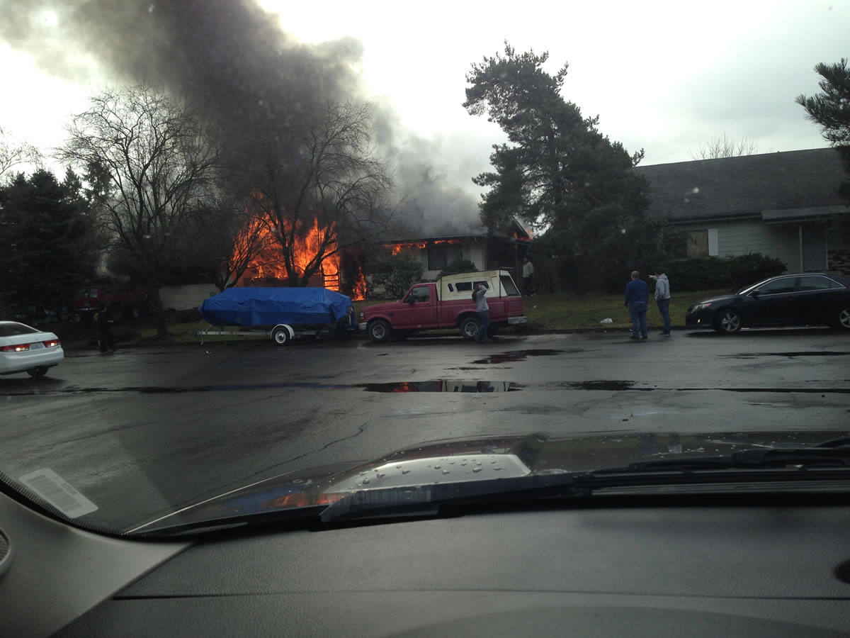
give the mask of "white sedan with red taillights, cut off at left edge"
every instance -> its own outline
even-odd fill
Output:
[[[65,358],[59,337],[19,322],[0,322],[0,374],[43,377]]]

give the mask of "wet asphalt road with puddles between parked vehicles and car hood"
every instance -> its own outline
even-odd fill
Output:
[[[456,436],[850,430],[850,333],[627,336],[71,350],[45,379],[0,377],[0,469],[48,467],[99,504],[91,520],[129,526]]]

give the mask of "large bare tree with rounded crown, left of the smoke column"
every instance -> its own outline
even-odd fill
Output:
[[[73,118],[59,152],[97,182],[94,199],[111,249],[133,259],[150,290],[157,333],[167,333],[159,288],[184,259],[184,232],[215,177],[218,152],[201,119],[156,88],[107,90]]]

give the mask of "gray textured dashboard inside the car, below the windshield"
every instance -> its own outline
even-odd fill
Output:
[[[108,538],[0,494],[0,635],[850,635],[850,506]]]

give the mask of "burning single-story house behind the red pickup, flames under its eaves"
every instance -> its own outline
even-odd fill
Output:
[[[439,271],[457,259],[468,259],[479,271],[516,272],[522,267],[530,239],[529,231],[513,220],[507,229],[498,233],[482,230],[468,235],[382,240],[379,243],[392,248],[396,254],[410,254],[422,261],[425,268],[422,278],[433,280]]]

